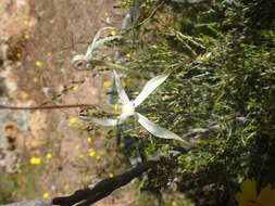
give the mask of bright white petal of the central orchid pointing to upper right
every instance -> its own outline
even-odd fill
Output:
[[[153,92],[153,90],[155,90],[163,81],[165,81],[168,76],[170,74],[163,74],[149,80],[134,101],[135,106],[141,104],[147,99],[147,96]]]

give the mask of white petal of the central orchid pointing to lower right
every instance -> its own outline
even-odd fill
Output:
[[[183,140],[182,138],[179,138],[176,133],[160,127],[159,125],[150,121],[148,118],[146,118],[143,115],[136,113],[136,117],[138,123],[146,129],[148,130],[150,133],[152,133],[153,136],[158,137],[158,138],[163,138],[163,139],[173,139],[173,140],[178,140],[180,142],[184,142],[187,145],[191,145],[191,143]],[[193,145],[192,145],[193,146]]]

